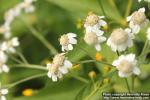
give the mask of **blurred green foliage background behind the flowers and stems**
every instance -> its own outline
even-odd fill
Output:
[[[108,18],[107,21],[110,23],[110,27],[108,27],[109,31],[104,35],[109,36],[111,30],[116,27],[125,28],[125,12],[128,1],[130,0],[101,1],[100,5],[103,5],[106,17]],[[4,13],[19,2],[21,2],[21,0],[0,0],[1,24],[4,22]],[[61,46],[58,41],[60,36],[68,32],[73,32],[78,35],[78,46],[75,46],[75,49],[67,54],[69,60],[77,62],[91,59],[89,56],[95,57],[96,51],[83,41],[83,22],[90,11],[97,15],[103,15],[98,0],[37,0],[34,5],[36,8],[34,13],[22,13],[20,17],[25,19],[30,26],[45,37],[58,52],[61,52]],[[132,0],[131,13],[140,7],[146,8],[146,15],[150,18],[150,10],[146,2],[138,3],[137,0]],[[135,46],[129,49],[130,52],[136,52],[137,56],[140,54],[146,40],[145,31],[146,28],[142,29],[135,40]],[[18,50],[23,53],[29,63],[44,65],[47,60],[52,60],[54,56],[52,52],[32,34],[31,30],[20,18],[16,18],[12,23],[12,33],[13,36],[19,37],[21,45]],[[81,48],[84,48],[87,52]],[[112,63],[112,61],[117,58],[116,53],[112,52],[105,44],[102,45],[100,54],[108,63]],[[147,56],[147,62],[149,62],[149,59],[150,56]],[[10,60],[9,64],[13,64],[13,62]],[[88,84],[78,81],[69,75],[66,75],[65,78],[59,82],[53,83],[51,79],[45,76],[11,88],[7,98],[8,100],[82,100],[93,91],[92,82],[88,77],[88,73],[94,70],[97,74],[95,80],[101,82],[103,81],[103,76],[108,74],[105,72],[105,66],[106,65],[100,63],[82,64],[80,69],[71,72],[75,76],[81,76],[89,80]],[[135,91],[150,92],[150,64],[144,64],[140,66],[140,69],[142,73],[139,78],[135,79]],[[44,73],[44,71],[27,68],[11,68],[9,74],[0,75],[0,81],[2,85],[5,85],[39,73]],[[101,98],[101,92],[104,91],[127,91],[124,80],[119,78],[116,72],[113,76],[109,75],[106,78],[109,78],[110,81],[103,84],[103,88],[98,90],[90,100],[98,100]],[[27,88],[34,90],[34,94],[30,97],[22,95],[22,91]]]

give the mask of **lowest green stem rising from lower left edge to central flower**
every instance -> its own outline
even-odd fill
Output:
[[[33,75],[33,76],[30,76],[30,77],[27,77],[25,79],[22,79],[22,80],[19,80],[17,82],[14,82],[14,83],[11,83],[11,84],[8,84],[8,85],[5,85],[3,86],[4,88],[12,88],[20,83],[23,83],[23,82],[26,82],[26,81],[29,81],[29,80],[32,80],[32,79],[35,79],[35,78],[39,78],[39,77],[42,77],[42,76],[46,76],[47,73],[42,73],[42,74],[37,74],[37,75]]]

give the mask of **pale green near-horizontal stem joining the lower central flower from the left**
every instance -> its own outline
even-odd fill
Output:
[[[9,65],[9,66],[13,66],[14,67],[24,67],[24,68],[31,68],[31,69],[39,69],[39,70],[44,70],[47,71],[47,69],[44,66],[40,66],[40,65],[33,65],[33,64],[14,64],[14,65]]]

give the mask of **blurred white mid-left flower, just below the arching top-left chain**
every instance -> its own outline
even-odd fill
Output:
[[[15,53],[16,52],[15,47],[17,47],[17,46],[19,46],[18,38],[13,37],[11,40],[4,41],[1,44],[1,49],[3,51],[7,51],[7,52],[10,52],[10,53]]]

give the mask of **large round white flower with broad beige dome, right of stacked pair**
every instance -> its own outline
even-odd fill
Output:
[[[113,51],[124,51],[127,47],[133,46],[133,34],[130,29],[115,29],[107,40],[107,45]]]

